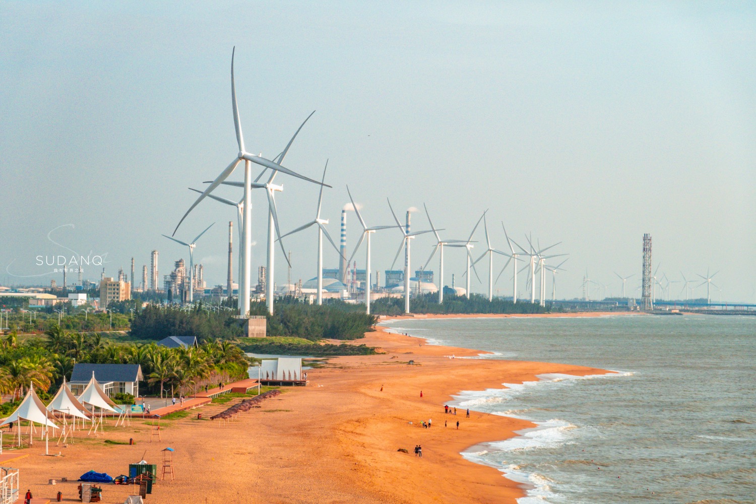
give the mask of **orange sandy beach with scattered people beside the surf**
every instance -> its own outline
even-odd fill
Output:
[[[100,438],[78,437],[68,447],[51,442],[50,452],[62,456],[45,456],[44,442],[36,441],[19,450],[27,456],[3,465],[20,468],[22,491],[53,499],[60,490],[64,502],[78,500],[77,484],[52,486],[49,479],[75,480],[90,469],[126,474],[129,463],[143,456],[160,473],[165,447],[175,449],[175,480],[158,481],[147,502],[516,502],[524,495],[518,484],[460,452],[533,424],[477,412],[467,419],[463,410],[445,414],[445,403],[459,391],[501,388],[542,373],[608,373],[569,364],[451,359],[481,352],[424,342],[378,327],[353,343],[385,353],[336,357],[308,371],[308,387],[287,388],[237,421],[207,420],[231,403],[209,404],[163,422],[160,441],[150,442],[149,422],[135,419]],[[429,419],[432,427],[423,428]],[[104,442],[129,438],[135,445]],[[416,444],[423,447],[422,459],[414,456]],[[130,493],[131,486],[106,485],[102,502],[123,502]]]

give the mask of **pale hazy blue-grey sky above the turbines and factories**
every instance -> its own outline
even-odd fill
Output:
[[[234,46],[249,152],[272,159],[316,110],[283,165],[318,179],[328,159],[322,216],[336,243],[349,184],[369,225],[393,223],[389,197],[402,213],[425,203],[445,239],[466,239],[488,210],[497,249],[502,223],[521,246],[526,233],[560,242],[557,298],[581,296],[586,274],[606,295],[621,293],[615,273],[635,274],[632,295],[650,233],[672,297],[684,298],[683,275],[710,271],[713,301],[756,303],[753,2],[2,2],[0,284],[60,283],[36,257],[72,250],[103,255],[107,276],[132,257],[140,275],[152,249],[161,279],[187,259],[161,234],[196,199],[187,187],[236,156]],[[313,219],[318,187],[277,181],[282,231]],[[253,204],[256,267],[265,193]],[[175,235],[215,223],[195,252],[211,286],[225,285],[234,212],[203,201]],[[424,212],[412,221],[428,228]],[[358,231],[350,213],[350,255]],[[481,228],[473,239],[477,256]],[[376,233],[373,270],[391,266],[400,241]],[[284,241],[293,280],[315,276],[316,242],[313,229]],[[433,245],[414,240],[413,268]],[[487,292],[487,266],[473,292]],[[448,249],[445,284],[453,273],[462,284],[464,268],[463,249]],[[511,295],[510,277],[494,292]]]

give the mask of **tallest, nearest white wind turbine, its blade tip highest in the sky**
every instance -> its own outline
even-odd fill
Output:
[[[304,175],[299,175],[299,173],[293,172],[292,170],[288,168],[284,168],[282,165],[280,165],[277,162],[273,162],[261,156],[255,156],[246,151],[244,147],[244,137],[241,131],[239,107],[237,105],[237,99],[236,99],[236,85],[234,84],[234,53],[235,52],[236,52],[236,48],[234,48],[234,51],[231,51],[231,105],[234,112],[234,128],[236,129],[237,145],[239,147],[239,151],[237,153],[236,158],[234,158],[234,160],[231,161],[231,164],[228,165],[226,169],[223,170],[223,172],[221,172],[221,174],[218,175],[217,178],[215,178],[215,181],[213,181],[212,184],[210,184],[206,188],[206,190],[204,190],[204,192],[200,194],[200,197],[197,198],[197,200],[194,203],[192,203],[192,206],[189,207],[189,209],[184,214],[184,216],[181,217],[181,220],[178,221],[178,224],[176,224],[176,228],[175,230],[173,230],[173,234],[175,235],[176,231],[178,230],[178,227],[181,226],[181,222],[183,222],[184,219],[187,217],[187,215],[189,215],[189,212],[191,212],[195,206],[199,205],[200,201],[202,201],[205,198],[205,196],[211,193],[212,190],[215,190],[215,187],[218,187],[218,185],[220,185],[223,181],[225,181],[225,179],[228,178],[228,176],[234,172],[234,170],[236,169],[237,165],[239,165],[240,162],[244,161],[244,215],[243,215],[243,228],[244,228],[243,271],[244,271],[244,274],[242,277],[242,280],[243,280],[242,285],[240,286],[241,292],[239,294],[239,317],[246,317],[247,314],[249,313],[249,287],[250,287],[250,276],[252,273],[252,264],[251,264],[252,255],[251,255],[251,250],[250,250],[252,248],[252,194],[251,194],[252,187],[249,186],[249,184],[252,182],[252,163],[254,162],[258,165],[265,166],[265,168],[274,170],[274,172],[283,172],[283,173],[286,173],[287,175],[292,175],[293,177],[296,177],[296,178],[302,178],[302,180],[309,181],[314,184],[321,184],[321,182],[314,181],[311,178],[305,177]],[[289,145],[291,145],[291,142],[289,143]],[[288,146],[287,146],[287,149],[288,149]],[[279,156],[279,158],[283,159],[283,153],[282,155]],[[268,302],[271,303],[272,301],[268,301]]]

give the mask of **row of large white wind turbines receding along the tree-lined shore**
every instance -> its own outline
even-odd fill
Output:
[[[328,184],[325,184],[325,175],[327,171],[327,165],[328,162],[326,162],[324,171],[323,171],[323,177],[321,178],[321,181],[316,181],[311,178],[305,177],[304,175],[300,175],[297,172],[294,172],[293,170],[285,168],[281,163],[283,162],[283,159],[287,155],[287,152],[289,151],[291,145],[293,144],[293,141],[296,139],[296,136],[299,134],[299,131],[302,130],[302,127],[305,125],[305,123],[310,119],[312,116],[311,113],[307,119],[305,119],[304,122],[302,122],[302,125],[299,126],[299,128],[294,133],[293,137],[290,139],[287,146],[283,149],[283,151],[276,156],[273,160],[265,159],[262,157],[262,154],[259,156],[255,156],[251,153],[249,153],[246,150],[246,146],[244,144],[244,138],[243,138],[243,132],[241,128],[241,121],[240,121],[240,115],[239,115],[239,109],[237,105],[237,97],[236,97],[236,86],[234,82],[234,54],[235,54],[235,48],[234,51],[231,53],[231,104],[233,108],[233,115],[234,115],[234,128],[236,131],[236,137],[237,137],[237,147],[238,152],[234,159],[231,161],[231,163],[218,175],[215,180],[213,181],[206,181],[206,184],[209,184],[204,190],[198,190],[194,188],[190,188],[191,190],[200,193],[200,196],[194,201],[194,203],[189,207],[186,213],[181,217],[181,219],[178,221],[178,224],[175,227],[175,230],[173,231],[173,235],[175,235],[176,231],[178,231],[178,227],[181,226],[181,223],[184,221],[185,218],[187,218],[187,215],[191,213],[191,211],[197,207],[197,205],[200,204],[200,202],[205,199],[206,197],[209,197],[211,199],[214,199],[215,201],[219,203],[224,203],[228,206],[234,206],[237,209],[237,222],[239,224],[239,230],[240,230],[240,242],[241,246],[239,247],[239,253],[240,253],[240,267],[239,267],[239,275],[240,275],[240,295],[239,295],[239,313],[238,317],[240,318],[246,318],[248,317],[248,311],[249,311],[249,302],[250,302],[250,289],[252,286],[251,283],[251,275],[252,275],[252,267],[251,267],[251,247],[252,247],[252,190],[253,189],[265,189],[265,192],[267,194],[268,199],[268,254],[267,254],[267,274],[268,279],[274,278],[274,249],[275,249],[275,243],[278,242],[280,244],[281,249],[283,250],[283,257],[289,261],[287,258],[287,254],[285,252],[285,249],[283,248],[283,242],[282,239],[284,237],[288,237],[294,233],[299,233],[303,230],[308,229],[309,227],[316,226],[318,228],[318,292],[317,292],[317,302],[318,305],[322,304],[322,288],[323,288],[323,237],[325,236],[331,246],[333,246],[334,249],[336,249],[336,252],[341,254],[339,251],[339,248],[336,247],[336,243],[333,242],[331,239],[328,231],[326,230],[325,224],[328,224],[328,220],[321,217],[321,206],[323,201],[323,188],[324,187],[331,187]],[[234,172],[235,169],[237,169],[237,166],[240,165],[240,163],[244,163],[244,181],[243,182],[234,182],[234,181],[227,181],[226,179]],[[262,166],[262,172],[253,180],[252,176],[252,165],[260,165]],[[267,181],[260,182],[260,179],[263,178],[266,172],[270,170],[271,172],[268,175]],[[295,178],[300,178],[304,181],[308,181],[311,184],[318,184],[320,186],[320,194],[318,196],[318,207],[315,212],[315,217],[312,221],[309,221],[305,224],[303,224],[300,227],[297,227],[295,230],[290,231],[290,233],[281,234],[280,233],[280,226],[278,222],[278,215],[277,215],[277,208],[276,208],[276,202],[275,202],[275,193],[283,191],[283,185],[282,184],[275,184],[274,179],[278,175],[278,173],[283,173],[285,175],[290,175]],[[217,196],[215,194],[212,194],[212,191],[215,190],[217,187],[221,185],[231,186],[231,187],[241,187],[243,188],[243,196],[238,201],[234,201],[231,199],[226,199],[221,196]],[[387,230],[396,228],[401,233],[401,243],[399,244],[398,251],[396,252],[394,261],[392,263],[392,269],[394,267],[394,264],[396,263],[399,255],[401,254],[402,250],[404,250],[404,310],[405,312],[410,312],[410,278],[411,278],[411,241],[425,233],[433,233],[433,236],[435,237],[436,244],[426,261],[426,267],[429,264],[429,262],[432,260],[433,256],[436,252],[438,252],[439,255],[439,276],[438,276],[438,302],[443,302],[443,295],[444,295],[444,247],[454,247],[454,248],[464,248],[466,249],[466,295],[469,298],[469,292],[470,292],[470,269],[472,268],[472,271],[476,274],[476,277],[478,277],[478,272],[476,271],[476,264],[479,263],[479,261],[482,261],[486,256],[488,256],[488,299],[491,300],[493,298],[493,286],[494,286],[494,278],[493,278],[493,258],[494,254],[497,255],[503,255],[507,257],[507,263],[504,264],[499,276],[497,277],[497,280],[504,271],[506,271],[507,267],[509,266],[510,262],[513,264],[513,301],[517,301],[517,276],[518,273],[521,273],[522,271],[525,271],[525,269],[529,270],[529,276],[528,276],[528,283],[530,285],[531,289],[531,296],[530,301],[531,303],[535,302],[535,281],[536,281],[536,274],[540,274],[540,302],[541,305],[545,305],[545,289],[546,289],[546,272],[551,271],[553,275],[552,279],[552,295],[555,295],[556,292],[556,272],[562,271],[561,266],[564,261],[562,261],[561,264],[557,266],[552,266],[549,264],[546,264],[546,261],[550,258],[558,257],[560,255],[565,254],[557,254],[557,255],[545,255],[544,252],[546,252],[549,249],[552,249],[554,246],[558,245],[559,243],[556,243],[551,246],[547,246],[544,248],[540,248],[539,246],[534,246],[531,238],[525,237],[526,240],[528,240],[528,248],[525,249],[522,246],[519,246],[518,243],[516,243],[514,240],[511,240],[510,237],[507,235],[507,230],[504,230],[505,237],[507,238],[507,246],[509,251],[500,251],[497,249],[494,249],[493,246],[491,246],[491,240],[488,233],[488,224],[486,221],[486,212],[483,213],[483,215],[479,218],[477,221],[475,227],[472,228],[472,232],[469,234],[469,237],[467,240],[442,240],[442,238],[439,235],[439,231],[442,231],[443,229],[436,228],[430,219],[430,215],[428,212],[428,209],[426,208],[426,215],[428,217],[428,221],[430,224],[429,230],[421,230],[421,231],[414,231],[411,232],[409,228],[409,223],[407,222],[407,225],[402,225],[399,221],[399,219],[396,216],[396,213],[394,212],[393,207],[391,206],[391,202],[389,203],[389,209],[392,213],[392,216],[395,221],[394,224],[390,225],[382,225],[382,226],[374,226],[369,227],[362,217],[361,213],[359,212],[359,208],[357,205],[355,205],[354,199],[352,198],[352,193],[349,191],[349,187],[347,187],[347,192],[349,193],[349,199],[352,202],[352,209],[355,210],[355,213],[357,214],[358,220],[361,224],[361,227],[363,228],[363,232],[361,233],[361,237],[357,243],[357,246],[355,247],[354,252],[352,252],[352,256],[349,258],[349,262],[352,261],[352,258],[355,257],[355,254],[360,249],[362,243],[365,243],[365,253],[366,253],[366,267],[365,270],[367,272],[367,281],[365,282],[365,304],[366,304],[366,310],[367,314],[370,314],[370,238],[373,233],[376,233],[380,230]],[[483,227],[485,230],[485,240],[486,240],[486,246],[485,252],[482,253],[482,255],[479,256],[479,258],[473,258],[472,257],[472,248],[473,243],[476,243],[472,240],[473,236],[475,235],[475,232],[477,228],[479,227],[481,221],[483,222]],[[212,224],[208,226],[205,230],[203,230],[202,233],[197,235],[197,237],[192,240],[190,243],[186,243],[184,241],[178,240],[173,236],[163,235],[166,238],[169,238],[169,240],[173,240],[176,243],[179,243],[183,246],[187,246],[189,248],[189,255],[190,255],[190,283],[191,286],[194,286],[194,248],[197,245],[197,240],[202,237],[202,235],[210,228],[212,227]],[[503,223],[502,223],[503,227]],[[516,247],[516,248],[515,248]],[[527,260],[525,259],[527,258]],[[525,264],[522,269],[518,271],[518,261],[525,261],[527,264]],[[423,268],[425,269],[425,268]],[[478,277],[479,279],[479,277]],[[480,279],[479,279],[480,280]],[[193,301],[193,288],[190,289],[189,292],[189,301]],[[274,282],[272,280],[268,280],[266,282],[266,292],[265,292],[265,299],[266,304],[268,308],[268,312],[273,314],[274,313]]]

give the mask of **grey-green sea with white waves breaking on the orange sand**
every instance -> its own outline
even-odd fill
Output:
[[[454,406],[536,428],[465,450],[527,491],[519,504],[756,502],[756,317],[621,315],[392,320],[477,358],[616,373],[461,391]]]

